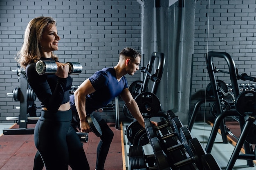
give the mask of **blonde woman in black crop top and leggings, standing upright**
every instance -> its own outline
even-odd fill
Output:
[[[89,170],[79,137],[71,126],[69,90],[72,78],[69,66],[58,62],[56,22],[51,17],[32,19],[27,25],[24,43],[16,60],[25,67],[27,81],[41,102],[41,117],[36,123],[34,140],[47,170]],[[55,61],[55,74],[39,75],[36,62]]]

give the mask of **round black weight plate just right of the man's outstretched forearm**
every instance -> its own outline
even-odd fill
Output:
[[[159,112],[160,101],[154,93],[142,92],[135,97],[139,110],[144,118],[150,118]]]

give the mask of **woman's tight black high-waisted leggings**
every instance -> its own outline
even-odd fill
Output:
[[[71,126],[72,113],[42,111],[34,140],[47,170],[90,170],[83,146]],[[36,158],[35,158],[36,159]]]

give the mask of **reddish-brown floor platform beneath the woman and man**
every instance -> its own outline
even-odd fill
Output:
[[[109,123],[108,125],[114,132],[114,138],[104,168],[105,170],[123,170],[121,144],[121,134],[123,132],[117,130],[115,124]],[[28,128],[34,128],[34,126],[35,124],[28,124]],[[18,125],[14,125],[12,128],[18,127]],[[96,150],[99,139],[94,133],[89,133],[88,143],[83,145],[90,170],[95,169]],[[32,170],[35,154],[34,135],[0,136],[0,170]]]

